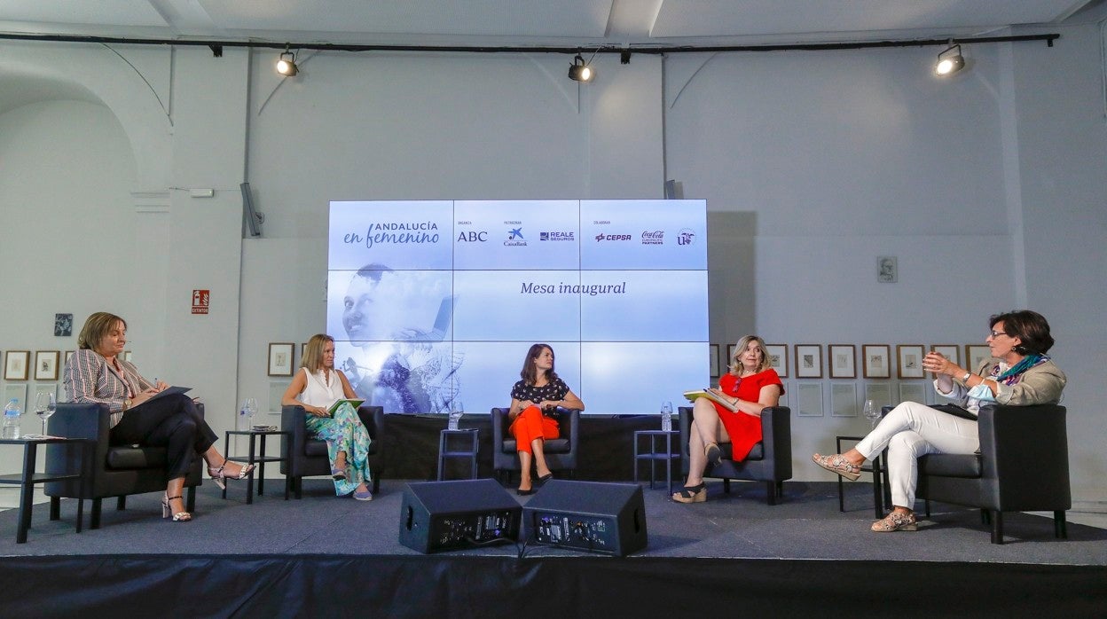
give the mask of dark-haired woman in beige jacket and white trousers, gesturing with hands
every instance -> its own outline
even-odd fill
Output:
[[[811,460],[823,468],[857,479],[861,465],[888,448],[888,476],[893,509],[872,524],[872,530],[915,530],[914,489],[917,461],[927,454],[972,454],[980,448],[976,415],[982,405],[1055,404],[1065,389],[1065,374],[1046,357],[1053,347],[1049,323],[1034,311],[1020,310],[989,319],[985,341],[992,358],[976,372],[959,367],[937,352],[923,359],[933,372],[939,395],[953,400],[971,415],[963,419],[915,402],[903,402],[886,415],[856,447],[844,454]]]

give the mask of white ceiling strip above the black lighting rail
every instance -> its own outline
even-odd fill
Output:
[[[3,0],[0,32],[351,44],[754,44],[1055,25],[1105,0]],[[1077,16],[1078,19],[1080,16]]]

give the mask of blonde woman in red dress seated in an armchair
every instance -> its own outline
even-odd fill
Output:
[[[718,379],[718,388],[711,391],[737,410],[731,411],[706,398],[696,399],[692,405],[689,478],[681,492],[673,493],[673,501],[679,503],[707,501],[703,473],[708,463],[722,462],[718,443],[731,443],[731,460],[742,462],[761,442],[761,412],[767,406],[776,406],[784,393],[780,376],[769,368],[765,341],[757,336],[738,340],[730,371]]]

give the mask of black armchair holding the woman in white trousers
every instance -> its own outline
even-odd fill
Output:
[[[935,406],[941,409],[941,406]],[[919,458],[915,496],[979,507],[992,522],[992,544],[1003,544],[1004,512],[1053,512],[1054,536],[1067,537],[1068,482],[1065,407],[984,406],[980,453],[929,454]]]

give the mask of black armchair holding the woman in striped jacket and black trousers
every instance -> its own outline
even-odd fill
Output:
[[[197,404],[200,415],[204,404]],[[106,404],[59,403],[58,411],[50,417],[48,432],[54,436],[89,439],[95,443],[92,471],[86,475],[84,498],[92,499],[90,528],[100,528],[101,503],[105,496],[118,497],[117,509],[126,508],[126,496],[147,492],[165,492],[165,447],[138,445],[113,445],[108,440],[111,412]],[[76,450],[46,446],[46,473],[75,471],[79,467]],[[196,509],[196,486],[201,484],[204,458],[196,456],[185,476],[186,507]],[[48,482],[46,496],[50,497],[50,519],[58,519],[62,497],[81,496],[81,481]]]

